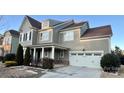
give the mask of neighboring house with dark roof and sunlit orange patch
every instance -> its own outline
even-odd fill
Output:
[[[8,53],[16,53],[19,44],[19,32],[16,30],[8,30],[4,33],[3,49],[4,55]]]

